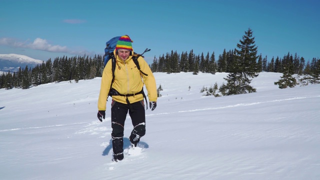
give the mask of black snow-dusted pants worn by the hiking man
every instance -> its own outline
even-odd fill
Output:
[[[131,103],[130,105],[133,111],[130,110],[128,104],[115,100],[112,100],[111,103],[112,149],[114,153],[113,158],[117,160],[123,159],[123,131],[127,112],[129,112],[133,125],[129,139],[139,141],[140,137],[145,134],[145,110],[143,100]]]

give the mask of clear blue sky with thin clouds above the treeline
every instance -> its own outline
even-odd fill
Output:
[[[258,54],[320,57],[318,0],[0,0],[0,53],[47,60],[103,54],[128,34],[145,59],[176,50],[215,58],[251,28]]]

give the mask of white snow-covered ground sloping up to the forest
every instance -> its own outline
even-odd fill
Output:
[[[119,162],[110,97],[96,118],[101,78],[0,89],[0,179],[320,179],[320,84],[279,89],[262,72],[257,92],[213,97],[200,89],[226,73],[154,75],[144,148],[128,151],[127,116]]]

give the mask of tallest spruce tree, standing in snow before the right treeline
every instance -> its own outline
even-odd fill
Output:
[[[252,30],[248,28],[242,40],[239,40],[235,49],[236,56],[230,64],[230,73],[224,78],[227,83],[220,86],[220,91],[225,95],[242,94],[255,92],[256,89],[250,86],[252,79],[259,75],[257,68],[257,47],[254,44]]]

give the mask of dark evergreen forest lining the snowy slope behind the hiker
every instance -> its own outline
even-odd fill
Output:
[[[103,59],[104,56],[101,55],[63,56],[56,57],[53,61],[48,59],[34,68],[25,66],[16,72],[1,74],[0,88],[26,89],[50,82],[78,82],[80,79],[101,77]],[[258,54],[250,28],[245,31],[234,49],[224,49],[222,54],[216,55],[214,51],[195,54],[193,49],[180,53],[171,50],[158,57],[154,56],[149,66],[152,72],[193,72],[194,75],[199,72],[227,72],[228,75],[224,78],[226,84],[222,84],[218,89],[221,95],[255,92],[249,83],[262,71],[283,73],[281,79],[274,82],[279,88],[294,87],[298,81],[302,85],[320,83],[319,58],[314,57],[306,62],[297,53],[292,55],[287,52],[282,57],[271,58]]]

